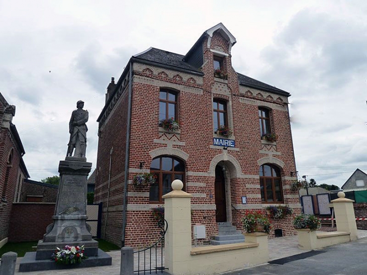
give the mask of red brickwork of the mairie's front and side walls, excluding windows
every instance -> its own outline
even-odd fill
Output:
[[[282,176],[284,177],[283,194],[288,196],[285,198],[286,204],[299,204],[297,192],[291,191],[290,184],[291,171],[296,171],[293,142],[290,129],[290,120],[288,110],[285,109],[284,103],[277,101],[279,97],[273,94],[273,98],[262,98],[258,95],[241,94],[238,84],[237,74],[232,68],[231,55],[224,58],[225,70],[228,74],[228,80],[225,84],[229,87],[230,95],[224,95],[219,91],[213,95],[213,86],[216,84],[213,71],[213,52],[207,48],[207,40],[203,41],[204,60],[206,65],[202,68],[204,77],[203,84],[197,82],[194,78],[188,77],[181,79],[179,77],[170,77],[164,73],[164,68],[136,69],[134,75],[139,76],[133,80],[133,96],[132,96],[132,125],[130,140],[130,158],[129,158],[129,198],[128,198],[128,218],[126,228],[126,245],[141,246],[152,242],[157,238],[157,228],[154,218],[151,215],[151,207],[149,198],[144,195],[149,192],[149,188],[136,188],[131,184],[133,176],[139,172],[139,163],[145,162],[145,169],[149,170],[152,158],[150,152],[157,148],[166,148],[164,143],[157,143],[154,140],[161,138],[158,127],[159,118],[159,89],[160,83],[179,84],[184,86],[179,90],[178,94],[178,121],[180,123],[180,134],[177,139],[184,142],[185,145],[170,145],[171,148],[179,149],[189,154],[189,158],[185,162],[186,166],[186,182],[190,182],[186,191],[191,194],[205,194],[205,196],[194,196],[192,205],[194,209],[203,205],[215,205],[214,198],[214,180],[215,176],[201,175],[198,173],[207,173],[210,169],[212,160],[223,153],[227,153],[230,157],[236,159],[240,167],[234,167],[233,163],[229,168],[231,172],[237,174],[249,175],[241,177],[232,177],[230,179],[231,203],[241,204],[241,196],[247,196],[247,204],[261,205],[259,197],[259,188],[253,188],[254,185],[259,187],[259,179],[256,178],[259,173],[259,165],[257,161],[268,155],[260,153],[262,142],[260,139],[260,129],[258,121],[258,106],[253,104],[245,104],[241,102],[243,99],[251,99],[261,101],[266,104],[279,106],[271,111],[272,130],[278,135],[277,152],[274,155],[277,159],[283,161]],[[213,34],[211,39],[211,49],[222,47],[228,53],[228,42],[217,32]],[[142,65],[143,67],[145,65]],[[148,67],[148,66],[146,66]],[[184,75],[184,73],[177,72]],[[194,76],[193,77],[197,77]],[[139,80],[140,79],[140,80]],[[142,80],[143,79],[143,80]],[[149,79],[145,81],[144,79]],[[223,83],[223,82],[222,82]],[[164,84],[161,85],[164,87]],[[187,89],[202,89],[202,94],[191,93]],[[106,228],[106,239],[116,244],[121,242],[122,231],[122,200],[123,200],[123,172],[125,159],[125,140],[126,140],[126,112],[127,112],[127,90],[122,95],[123,104],[115,107],[111,113],[110,119],[106,123],[100,124],[102,129],[102,137],[99,140],[99,151],[97,169],[98,176],[96,178],[96,202],[103,201],[104,208],[107,204],[107,179],[108,179],[108,163],[110,157],[110,148],[114,146],[113,152],[113,168],[111,171],[111,212],[108,216],[108,224]],[[236,141],[236,148],[239,151],[228,150],[224,152],[223,148],[211,148],[213,144],[213,97],[225,98],[230,103],[233,114],[231,119],[232,129]],[[214,163],[217,164],[217,163]],[[101,168],[100,168],[101,167]],[[240,169],[240,170],[238,170]],[[139,193],[142,195],[139,196]],[[133,195],[132,195],[133,194]],[[129,208],[130,206],[130,208]],[[141,210],[139,210],[141,207]],[[134,208],[134,210],[132,210]],[[261,206],[260,206],[261,208]],[[104,210],[105,211],[105,210]],[[241,215],[235,210],[232,211],[232,223],[241,228]],[[295,210],[298,214],[300,209]],[[104,212],[105,213],[105,212]],[[103,222],[105,222],[105,217]],[[283,234],[295,234],[292,225],[292,219],[287,218],[278,228],[283,229]],[[214,210],[194,210],[193,225],[205,224],[207,235],[213,236],[218,232],[218,225],[215,222]],[[104,225],[103,225],[104,231]],[[273,235],[273,231],[271,232]],[[102,234],[102,236],[104,233]]]

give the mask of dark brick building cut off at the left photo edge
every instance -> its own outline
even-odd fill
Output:
[[[19,198],[23,180],[29,178],[22,141],[12,123],[14,116],[15,106],[0,93],[0,246],[8,237],[13,202]]]

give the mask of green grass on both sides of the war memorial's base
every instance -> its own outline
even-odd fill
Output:
[[[117,245],[105,241],[103,239],[97,239],[98,247],[101,248],[105,252],[109,252],[111,250],[120,250],[120,247]],[[13,251],[18,253],[18,257],[23,257],[26,252],[32,252],[32,246],[37,246],[38,241],[34,242],[8,242],[2,248],[0,248],[0,257],[9,251]],[[56,247],[55,247],[56,248]]]

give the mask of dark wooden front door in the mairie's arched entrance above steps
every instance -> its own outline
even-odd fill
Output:
[[[226,210],[226,188],[224,181],[224,173],[222,167],[217,165],[215,167],[215,205],[217,207],[215,220],[216,222],[227,221],[227,210]]]

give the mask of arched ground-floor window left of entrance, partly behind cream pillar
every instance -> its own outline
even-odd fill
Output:
[[[157,175],[157,181],[149,191],[151,202],[162,203],[162,196],[171,191],[171,184],[175,179],[184,182],[185,189],[185,165],[176,158],[162,156],[153,159],[150,172]]]

